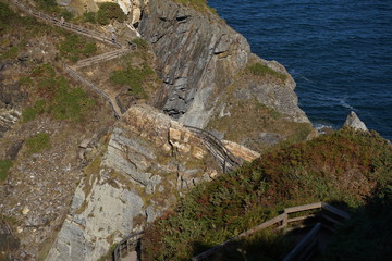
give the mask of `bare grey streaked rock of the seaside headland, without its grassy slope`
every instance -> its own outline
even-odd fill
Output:
[[[152,44],[161,62],[166,89],[162,109],[181,122],[205,127],[218,100],[249,62],[262,62],[285,74],[286,80],[249,80],[238,90],[243,99],[260,102],[287,114],[291,121],[309,122],[297,107],[294,80],[278,62],[267,62],[250,53],[246,39],[205,8],[195,11],[167,0],[151,0],[145,9],[139,32]],[[252,61],[250,61],[252,60]],[[241,92],[241,94],[240,94]],[[271,99],[272,97],[272,99]]]

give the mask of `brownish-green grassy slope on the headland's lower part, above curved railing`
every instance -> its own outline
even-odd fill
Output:
[[[303,141],[313,132],[308,123],[295,123],[286,120],[286,115],[269,108],[256,99],[240,100],[231,98],[225,101],[225,115],[215,115],[207,128],[223,132],[224,138],[256,150],[269,148],[268,142],[278,144],[286,140],[287,144]],[[255,128],[255,125],[258,128]],[[241,126],[241,128],[238,128]],[[260,141],[260,133],[273,134],[273,141]]]

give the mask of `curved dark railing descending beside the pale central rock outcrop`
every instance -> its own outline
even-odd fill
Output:
[[[234,156],[216,136],[205,129],[184,125],[200,137],[210,153],[222,164],[223,172],[233,171],[244,163],[244,159]]]

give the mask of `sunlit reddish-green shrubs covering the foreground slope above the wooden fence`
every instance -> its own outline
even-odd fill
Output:
[[[275,148],[252,164],[194,188],[173,212],[147,229],[144,256],[146,260],[188,260],[286,207],[334,201],[357,208],[391,182],[392,147],[376,133],[344,128]],[[257,253],[247,249],[247,260],[257,260],[260,251],[266,260],[280,258],[268,248]]]

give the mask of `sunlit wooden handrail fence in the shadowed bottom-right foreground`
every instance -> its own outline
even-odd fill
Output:
[[[230,243],[234,241],[234,240],[238,240],[243,237],[246,237],[250,234],[254,234],[255,232],[259,232],[261,229],[268,228],[268,227],[272,227],[274,226],[275,229],[281,229],[281,228],[285,228],[287,227],[291,223],[295,223],[295,222],[302,222],[305,221],[307,219],[310,217],[316,217],[316,214],[306,214],[306,215],[301,215],[301,216],[296,216],[296,217],[290,217],[290,215],[292,214],[296,214],[296,213],[301,213],[304,211],[309,211],[309,210],[321,210],[321,214],[319,215],[321,217],[321,221],[328,221],[328,225],[322,225],[326,228],[329,228],[331,231],[335,229],[335,225],[342,225],[343,224],[343,220],[350,219],[350,214],[347,214],[346,212],[336,209],[328,203],[324,202],[317,202],[317,203],[310,203],[310,204],[304,204],[304,206],[297,206],[297,207],[292,207],[292,208],[287,208],[284,210],[284,212],[260,225],[257,225],[235,237],[230,238],[229,240],[213,247],[210,248],[195,257],[192,258],[192,261],[201,261],[201,260],[207,260],[211,254],[216,253],[217,251],[221,250],[223,247],[225,247],[226,245],[229,245]],[[331,225],[332,224],[332,225]],[[315,228],[316,227],[316,228]],[[298,247],[298,245],[292,250],[292,252],[290,252],[285,259],[283,259],[284,261],[291,261],[294,260],[295,257],[297,256],[305,256],[306,252],[310,251],[310,249],[315,246],[315,238],[318,236],[318,233],[321,228],[321,225],[317,225],[315,226],[309,234],[303,239],[305,240],[304,243],[299,243],[301,246]],[[318,227],[318,228],[317,228]],[[306,248],[306,246],[313,245],[309,248]],[[298,259],[301,260],[301,259]]]

